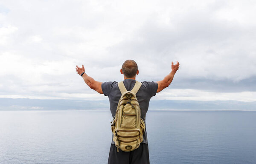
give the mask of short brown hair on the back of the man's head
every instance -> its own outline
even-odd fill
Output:
[[[122,72],[126,78],[133,78],[137,74],[138,65],[134,60],[125,60],[122,64]]]

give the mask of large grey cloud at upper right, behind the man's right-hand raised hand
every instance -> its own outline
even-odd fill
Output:
[[[111,51],[150,60],[149,66],[159,72],[179,60],[178,74],[186,78],[240,81],[255,76],[254,24],[243,27],[236,20],[216,17],[217,13],[218,9],[191,9],[164,26],[157,23],[162,15],[155,14],[133,37],[111,47]],[[147,73],[154,76],[151,71]],[[160,76],[164,74],[160,72]]]

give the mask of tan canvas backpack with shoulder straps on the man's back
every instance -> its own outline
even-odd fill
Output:
[[[116,115],[111,121],[113,141],[118,149],[129,152],[137,149],[143,141],[145,123],[140,118],[140,105],[136,98],[136,93],[142,83],[136,81],[134,88],[127,91],[122,81],[118,82],[118,87],[122,93],[116,109]]]

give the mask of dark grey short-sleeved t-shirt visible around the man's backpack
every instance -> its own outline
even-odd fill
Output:
[[[125,79],[124,81],[125,88],[128,91],[131,91],[131,89],[135,85],[135,80],[133,79]],[[108,81],[102,83],[102,91],[105,96],[108,96],[109,103],[110,103],[110,111],[112,116],[114,117],[116,115],[116,108],[118,105],[118,101],[121,97],[121,92],[118,87],[118,82],[116,81]],[[142,85],[139,89],[139,91],[136,94],[137,100],[139,101],[140,104],[140,115],[141,118],[143,118],[144,122],[146,119],[146,113],[148,111],[148,105],[150,98],[157,93],[157,88],[158,84],[154,81],[143,81]],[[145,122],[146,124],[146,122]],[[147,138],[147,130],[145,129],[145,132],[143,134],[143,143],[147,144],[148,143],[148,138]],[[112,144],[114,144],[113,141],[113,135],[112,135]]]

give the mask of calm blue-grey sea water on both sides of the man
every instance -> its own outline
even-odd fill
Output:
[[[106,164],[109,111],[0,111],[0,164]],[[149,111],[151,164],[255,164],[256,111]]]

